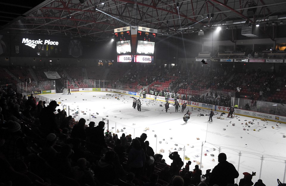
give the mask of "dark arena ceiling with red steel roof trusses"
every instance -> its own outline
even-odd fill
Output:
[[[0,4],[1,32],[91,40],[107,40],[115,28],[125,26],[154,28],[164,35],[248,24],[263,24],[260,29],[265,30],[286,23],[285,0],[37,0],[27,5],[4,0]]]

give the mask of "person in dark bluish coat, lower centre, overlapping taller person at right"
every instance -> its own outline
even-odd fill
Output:
[[[132,148],[128,153],[127,165],[131,168],[131,172],[133,172],[136,177],[139,177],[143,171],[143,165],[145,165],[145,153],[138,139],[134,139],[131,146]]]

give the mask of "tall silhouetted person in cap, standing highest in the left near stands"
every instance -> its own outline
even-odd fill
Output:
[[[60,133],[60,130],[56,122],[56,115],[54,113],[57,106],[60,105],[57,104],[55,100],[53,100],[49,103],[47,107],[44,107],[41,111],[40,114],[41,131],[45,136],[47,136],[49,133],[53,133],[54,131]]]

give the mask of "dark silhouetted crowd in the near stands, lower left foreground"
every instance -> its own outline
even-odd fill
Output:
[[[74,121],[57,106],[11,87],[0,90],[0,185],[237,185],[239,174],[224,153],[203,174],[191,161],[184,166],[177,151],[169,157],[155,154],[145,133],[119,137],[103,121]],[[253,185],[255,173],[243,174],[239,186]]]

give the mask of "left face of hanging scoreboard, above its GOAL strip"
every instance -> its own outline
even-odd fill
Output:
[[[117,54],[131,54],[130,26],[114,29]]]

